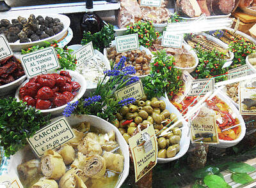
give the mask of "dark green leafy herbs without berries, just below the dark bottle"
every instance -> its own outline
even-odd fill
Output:
[[[105,25],[99,32],[94,34],[90,33],[90,31],[84,32],[81,45],[86,45],[92,41],[93,48],[103,52],[104,48],[109,47],[111,41],[115,39],[114,33],[114,26],[111,24]]]

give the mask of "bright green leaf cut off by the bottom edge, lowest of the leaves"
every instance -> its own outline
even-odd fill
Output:
[[[209,188],[229,188],[230,185],[223,180],[223,178],[218,177],[217,175],[207,175],[204,178],[204,184]]]

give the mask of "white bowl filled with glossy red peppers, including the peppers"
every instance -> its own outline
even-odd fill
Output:
[[[86,80],[76,71],[57,71],[35,76],[20,85],[15,93],[18,101],[42,113],[58,115],[67,103],[80,99],[86,91]]]

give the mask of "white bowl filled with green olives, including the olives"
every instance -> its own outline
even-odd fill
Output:
[[[139,124],[153,124],[156,135],[160,135],[160,131],[171,126],[177,120],[181,120],[180,124],[168,131],[168,135],[157,136],[158,163],[168,163],[182,157],[187,152],[190,143],[188,124],[168,99],[143,97],[133,104],[123,106],[120,112],[116,113],[113,124],[128,143]]]

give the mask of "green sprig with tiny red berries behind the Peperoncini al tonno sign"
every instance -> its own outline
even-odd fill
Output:
[[[49,43],[45,41],[45,45],[42,47],[37,46],[33,46],[31,48],[28,48],[26,50],[21,50],[21,54],[29,54],[31,52],[35,52],[36,50],[42,50],[44,48],[47,47],[54,47],[56,52],[57,52],[57,56],[60,62],[60,66],[61,69],[69,69],[69,70],[75,70],[76,69],[76,57],[74,57],[74,55],[72,55],[72,52],[74,50],[68,49],[67,47],[64,48],[60,48],[58,46],[57,41],[54,41],[54,43]]]

